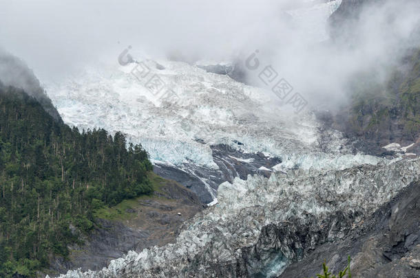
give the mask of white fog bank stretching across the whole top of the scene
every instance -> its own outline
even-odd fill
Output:
[[[0,0],[0,47],[41,81],[96,62],[116,64],[128,45],[135,58],[188,62],[244,60],[258,49],[261,64],[315,106],[345,100],[359,72],[385,80],[407,49],[420,45],[420,1],[375,1],[352,23],[357,37],[336,43],[328,40],[326,8],[315,5],[324,2]],[[257,76],[249,72],[249,81]]]

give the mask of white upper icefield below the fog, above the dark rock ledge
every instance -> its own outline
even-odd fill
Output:
[[[333,135],[337,140],[331,142],[329,154],[317,152],[315,116],[289,115],[282,106],[273,106],[275,96],[263,89],[184,62],[160,64],[164,70],[152,70],[178,93],[179,104],[156,105],[145,86],[122,67],[90,68],[45,87],[67,124],[120,130],[129,141],[142,143],[154,161],[193,162],[217,169],[210,146],[218,143],[245,152],[269,152],[286,161],[288,168],[332,169],[379,161],[363,155],[336,159],[343,145],[339,135]],[[245,91],[252,91],[251,97]]]

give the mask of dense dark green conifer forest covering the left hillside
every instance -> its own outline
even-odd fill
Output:
[[[79,132],[0,84],[0,277],[33,277],[50,254],[68,255],[94,211],[153,192],[151,170],[120,132]]]

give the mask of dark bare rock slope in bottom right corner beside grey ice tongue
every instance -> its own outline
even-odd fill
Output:
[[[348,255],[353,277],[419,277],[420,183],[406,187],[344,240],[316,246],[280,277],[315,276],[324,260],[338,273],[346,267]]]

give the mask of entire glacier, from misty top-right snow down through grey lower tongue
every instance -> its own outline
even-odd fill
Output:
[[[306,2],[309,8],[288,14],[309,22],[314,41],[325,40],[323,26],[341,1]],[[132,74],[140,64],[179,99],[169,102],[147,89],[147,80]],[[213,64],[229,62],[145,59],[45,82],[67,124],[122,131],[142,144],[155,167],[196,178],[210,196],[207,209],[182,225],[174,244],[129,251],[102,270],[69,270],[61,278],[277,277],[419,181],[420,159],[353,154],[343,135],[323,129],[311,108],[295,114],[270,91],[208,72]],[[253,164],[256,157],[279,163]],[[233,161],[258,174],[241,179]],[[229,178],[212,183],[220,165],[229,168]]]

